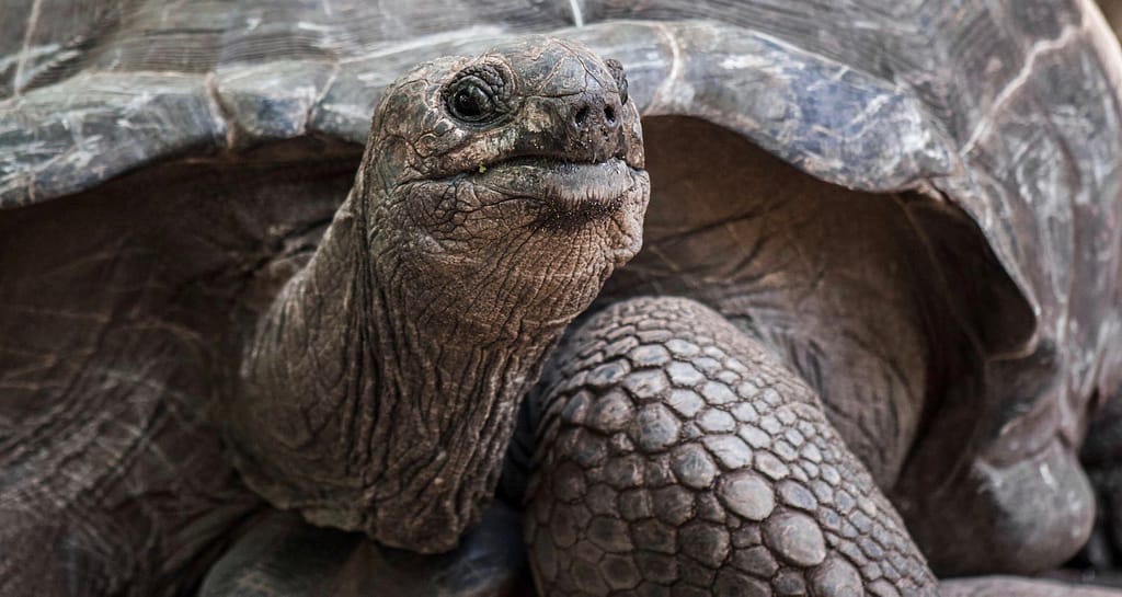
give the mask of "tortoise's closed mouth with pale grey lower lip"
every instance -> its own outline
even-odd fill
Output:
[[[511,199],[525,199],[572,214],[615,212],[636,192],[642,171],[623,158],[598,163],[521,156],[469,174],[471,182]]]

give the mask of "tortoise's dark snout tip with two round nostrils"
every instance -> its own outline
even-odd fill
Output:
[[[570,149],[590,162],[622,157],[625,139],[620,120],[624,105],[619,93],[598,85],[571,95],[565,127]]]

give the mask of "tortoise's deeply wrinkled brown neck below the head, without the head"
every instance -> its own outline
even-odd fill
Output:
[[[352,194],[259,322],[229,435],[275,505],[441,551],[478,520],[561,325],[486,334],[411,298],[419,281],[365,211]]]

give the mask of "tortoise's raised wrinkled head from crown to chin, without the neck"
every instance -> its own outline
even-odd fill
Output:
[[[619,63],[531,37],[390,85],[356,190],[373,252],[393,254],[371,263],[421,281],[405,300],[502,334],[563,325],[635,255],[642,168]]]

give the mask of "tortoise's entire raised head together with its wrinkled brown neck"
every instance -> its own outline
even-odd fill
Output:
[[[245,350],[223,414],[251,488],[389,545],[456,545],[545,351],[640,247],[625,90],[618,64],[544,38],[387,90],[350,196]]]

